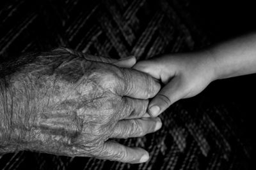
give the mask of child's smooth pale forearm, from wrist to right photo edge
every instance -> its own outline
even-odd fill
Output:
[[[214,80],[256,73],[256,34],[232,39],[209,51]]]

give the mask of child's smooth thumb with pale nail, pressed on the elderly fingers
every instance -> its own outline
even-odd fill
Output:
[[[171,104],[175,103],[182,98],[184,90],[178,77],[174,77],[160,92],[156,97],[150,101],[148,104],[148,113],[152,117],[157,117],[164,110],[166,110]]]

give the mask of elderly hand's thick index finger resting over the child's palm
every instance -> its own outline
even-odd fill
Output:
[[[161,85],[152,76],[134,69],[124,69],[124,89],[122,90],[122,96],[148,99],[156,96],[160,88]]]

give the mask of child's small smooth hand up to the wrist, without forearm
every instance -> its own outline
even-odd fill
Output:
[[[148,113],[156,117],[175,101],[202,92],[214,80],[213,62],[209,53],[164,55],[138,62],[134,69],[150,74],[165,85],[148,105]]]

